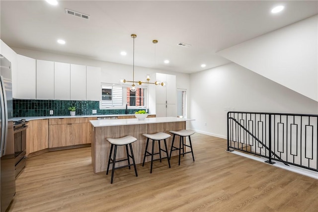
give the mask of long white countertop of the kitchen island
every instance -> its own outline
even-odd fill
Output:
[[[90,123],[94,127],[109,127],[109,126],[121,126],[121,125],[142,125],[153,123],[167,123],[167,122],[185,122],[194,121],[195,119],[177,118],[177,117],[156,117],[146,118],[143,121],[135,119],[106,119],[106,120],[93,120]]]

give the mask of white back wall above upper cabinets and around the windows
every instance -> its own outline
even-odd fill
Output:
[[[89,58],[84,58],[84,57],[61,55],[61,54],[34,51],[34,50],[28,50],[28,49],[20,49],[20,48],[14,48],[14,47],[12,47],[12,49],[19,55],[23,55],[23,56],[38,59],[38,60],[100,67],[102,82],[118,84],[120,78],[125,78],[126,80],[133,80],[133,67],[129,65],[103,62],[103,61],[91,60]],[[163,70],[149,69],[144,67],[135,67],[135,80],[146,81],[145,76],[147,73],[155,75],[156,72],[176,75],[177,88],[189,90],[190,75],[187,73],[163,71]],[[151,82],[155,82],[154,77],[152,77]],[[155,85],[149,85],[149,86],[155,86]],[[188,95],[188,99],[189,97],[190,96]],[[154,99],[154,98],[150,98],[150,99]],[[150,104],[150,106],[152,105],[154,104]]]

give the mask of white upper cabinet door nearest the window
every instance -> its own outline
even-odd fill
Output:
[[[100,74],[99,67],[86,67],[86,100],[99,101],[101,99]]]

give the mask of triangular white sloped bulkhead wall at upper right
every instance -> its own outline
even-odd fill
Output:
[[[217,54],[318,101],[318,15]]]

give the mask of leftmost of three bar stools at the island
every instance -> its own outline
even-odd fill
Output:
[[[132,143],[137,141],[137,139],[135,137],[132,137],[132,136],[126,136],[126,137],[123,137],[123,138],[118,138],[118,139],[111,139],[111,138],[107,138],[106,139],[110,144],[110,152],[109,152],[109,158],[108,158],[108,165],[107,165],[107,171],[106,171],[106,175],[108,175],[108,169],[109,169],[109,165],[112,163],[113,164],[113,168],[112,168],[112,172],[111,172],[111,181],[110,183],[112,184],[113,183],[113,179],[114,179],[114,171],[115,169],[119,169],[119,168],[124,168],[124,167],[129,167],[130,169],[130,166],[134,166],[135,168],[135,174],[136,174],[136,177],[138,177],[138,174],[137,174],[137,169],[136,169],[136,163],[135,163],[135,157],[134,157],[134,152],[133,152],[133,147],[132,147]],[[130,152],[131,152],[131,155],[128,153],[128,144],[129,144],[129,147],[130,147]],[[117,152],[117,146],[119,145],[125,145],[126,146],[126,153],[127,153],[127,159],[122,159],[122,160],[116,160],[116,152]],[[113,158],[111,158],[111,154],[112,154],[112,151],[113,151],[113,147],[115,146],[114,148],[114,156]],[[130,159],[129,157],[131,157],[133,159],[133,164],[130,164]],[[121,162],[121,161],[125,161],[125,160],[128,160],[128,165],[123,165],[123,166],[119,166],[119,167],[116,167],[115,168],[115,163],[117,162]]]

